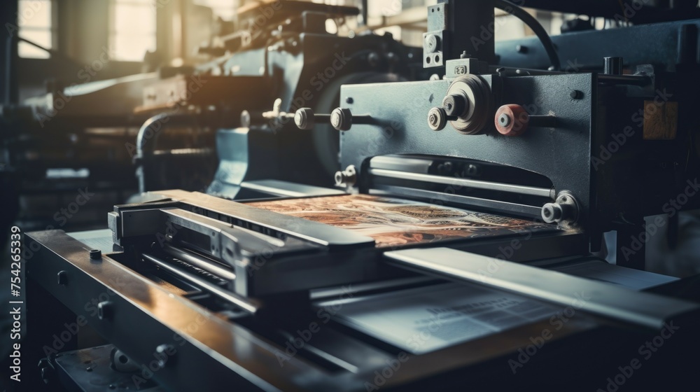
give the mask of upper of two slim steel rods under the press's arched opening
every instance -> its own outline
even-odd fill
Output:
[[[432,174],[398,172],[386,169],[370,169],[372,176],[388,177],[391,179],[402,179],[410,181],[423,181],[427,183],[441,183],[451,186],[464,186],[467,188],[498,190],[500,192],[519,193],[520,195],[531,195],[540,197],[552,197],[552,190],[547,188],[537,188],[534,186],[513,185],[507,183],[492,183],[489,181],[479,181],[472,179],[458,179],[455,177],[434,176]]]

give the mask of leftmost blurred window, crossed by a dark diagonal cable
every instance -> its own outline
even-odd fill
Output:
[[[53,18],[51,0],[20,0],[18,3],[17,23],[20,28],[18,35],[31,42],[53,48]],[[31,59],[48,59],[49,53],[36,48],[29,43],[20,41],[18,45],[20,57]]]

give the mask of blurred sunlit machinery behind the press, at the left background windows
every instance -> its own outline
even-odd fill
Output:
[[[305,1],[244,6],[237,32],[217,37],[219,46],[200,48],[215,57],[211,62],[84,85],[52,81],[41,97],[3,106],[3,171],[11,173],[13,197],[87,186],[97,194],[121,190],[109,199],[113,204],[125,193],[164,188],[208,187],[233,198],[241,183],[258,179],[331,185],[337,134],[292,130],[284,113],[301,106],[328,110],[342,84],[421,76],[417,49],[391,34],[328,33],[329,21],[358,13]],[[15,48],[17,40],[10,40]],[[13,64],[6,87],[16,98]],[[234,131],[241,113],[245,132]],[[41,206],[41,200],[22,201],[30,216]],[[33,224],[45,227],[41,212],[34,215]]]

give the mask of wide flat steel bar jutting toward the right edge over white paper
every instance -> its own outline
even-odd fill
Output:
[[[696,317],[700,310],[700,304],[685,300],[451,248],[407,249],[384,255],[409,269],[479,283],[657,330],[671,318],[691,313]]]

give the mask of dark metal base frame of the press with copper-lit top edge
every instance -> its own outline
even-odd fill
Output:
[[[640,344],[654,338],[645,331],[606,327],[601,320],[577,312],[517,374],[512,373],[509,360],[521,360],[518,349],[533,344],[532,339],[543,330],[554,330],[552,323],[542,321],[447,349],[410,355],[400,369],[391,370],[391,377],[377,377],[389,373],[386,368],[399,358],[398,349],[332,321],[325,324],[298,299],[289,301],[295,306],[288,309],[231,318],[230,309],[211,295],[183,292],[166,281],[149,279],[144,271],[125,267],[109,255],[102,261],[90,260],[85,244],[62,232],[36,232],[27,239],[27,246],[39,248],[27,260],[30,279],[134,361],[150,366],[160,346],[172,346],[165,363],[149,378],[172,391],[365,391],[367,383],[381,383],[382,389],[389,390],[424,390],[436,385],[454,390],[467,384],[478,390],[516,386],[594,390],[605,388],[605,377],[614,377],[618,365],[640,356]],[[66,276],[62,284],[57,281],[59,272]],[[107,302],[102,312],[97,311],[96,302]],[[32,302],[29,307],[34,320],[41,322],[41,302]],[[290,341],[281,338],[279,331],[296,336],[311,322],[321,325],[320,332],[298,353],[288,356]],[[627,382],[644,385],[658,377],[664,384],[676,383],[682,380],[665,374],[692,374],[686,372],[692,364],[683,359],[691,356],[678,352],[694,347],[686,343],[694,341],[692,333],[684,333],[693,330],[692,325],[681,325],[680,332],[664,343],[664,350],[644,363],[644,373]],[[678,337],[681,335],[685,338]],[[325,357],[318,356],[319,351]],[[75,374],[86,372],[85,360],[106,364],[106,349],[99,355],[83,356],[84,352],[56,361],[69,376],[66,384],[78,384]],[[350,371],[343,367],[347,364],[356,368]],[[685,373],[679,373],[681,370]],[[100,379],[104,387],[107,379]],[[109,390],[109,384],[106,386]]]

